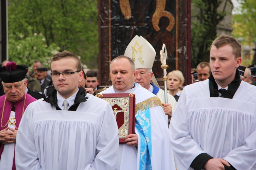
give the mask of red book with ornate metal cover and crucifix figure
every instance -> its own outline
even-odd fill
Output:
[[[118,127],[119,143],[126,143],[127,135],[134,134],[135,95],[132,93],[97,94],[97,97],[112,106]]]

